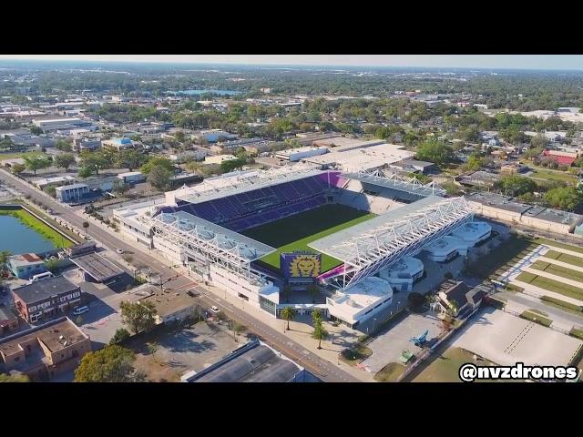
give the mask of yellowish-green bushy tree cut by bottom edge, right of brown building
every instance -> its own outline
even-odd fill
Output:
[[[117,344],[83,356],[75,371],[75,382],[132,382],[137,381],[133,351]]]

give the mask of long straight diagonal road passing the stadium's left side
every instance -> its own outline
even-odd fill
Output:
[[[45,193],[41,193],[36,190],[36,188],[31,188],[25,182],[18,178],[10,175],[4,170],[0,170],[0,179],[5,182],[9,182],[15,186],[20,192],[25,195],[29,195],[31,198],[36,198],[36,200],[42,202],[44,205],[53,209],[53,211],[61,219],[68,221],[71,225],[77,227],[78,229],[83,229],[83,222],[86,221],[82,217],[77,216],[75,212],[66,208],[63,205],[56,202],[54,199],[49,198]],[[177,272],[170,269],[165,264],[159,262],[144,252],[139,252],[136,248],[128,246],[123,240],[118,239],[115,235],[110,234],[104,229],[98,228],[97,226],[89,226],[87,228],[87,235],[91,236],[93,239],[98,240],[102,244],[105,244],[110,249],[124,249],[132,252],[132,256],[138,263],[148,266],[155,274],[161,274],[163,278],[176,277]],[[187,289],[195,288],[201,294],[200,299],[204,302],[208,302],[210,305],[216,305],[220,310],[223,310],[228,314],[233,320],[245,325],[251,332],[257,335],[261,340],[265,341],[267,344],[271,345],[278,351],[283,352],[288,357],[297,361],[302,367],[311,371],[314,375],[318,376],[322,381],[326,382],[359,382],[351,374],[339,369],[329,361],[322,360],[314,353],[306,351],[299,343],[290,340],[285,334],[272,329],[270,326],[251,317],[248,313],[243,310],[230,305],[229,302],[225,300],[220,300],[220,298],[214,296],[209,290],[204,289],[198,283],[192,281],[184,275],[179,275],[176,279],[172,279],[165,287],[170,289]]]

